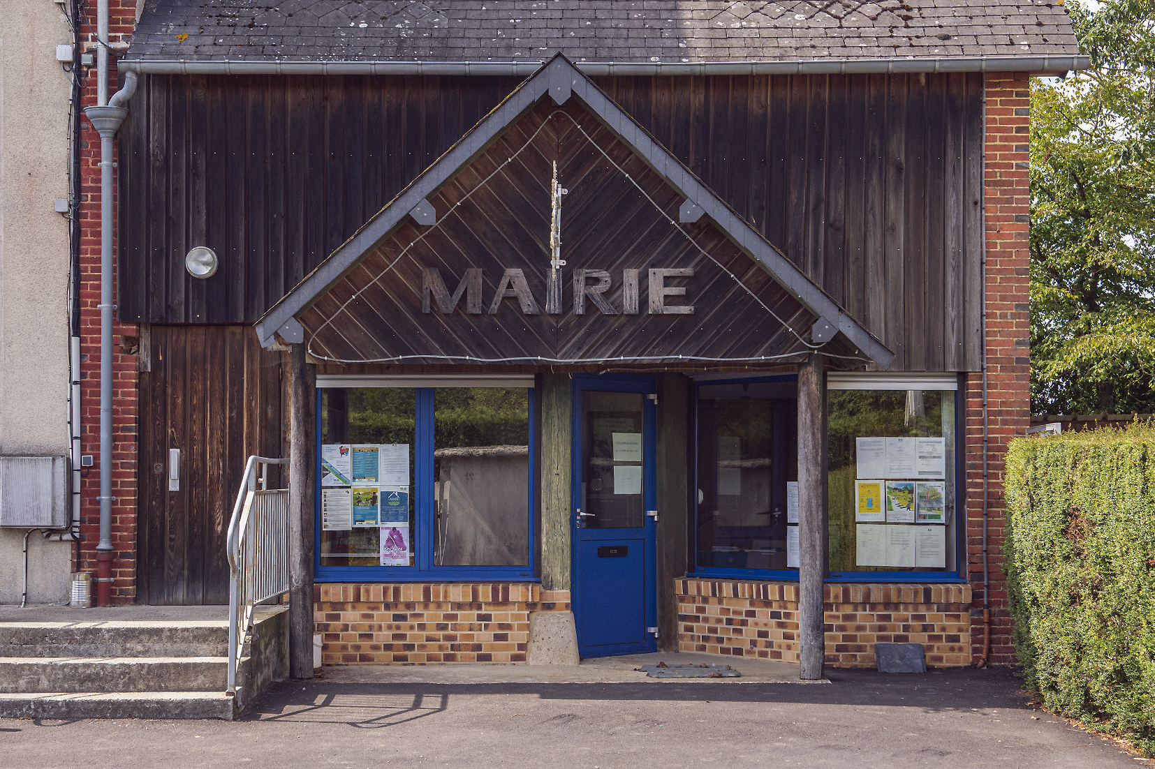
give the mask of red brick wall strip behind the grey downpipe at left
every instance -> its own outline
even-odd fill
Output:
[[[94,53],[96,8],[89,7],[87,25],[81,28],[81,45]],[[136,24],[135,0],[109,1],[109,45],[122,52]],[[110,60],[113,57],[110,57]],[[96,104],[96,66],[83,67],[83,104]],[[117,91],[117,72],[110,65],[109,96]],[[129,109],[132,104],[129,103]],[[100,136],[88,120],[81,120],[81,202],[80,202],[80,334],[81,334],[81,450],[91,454],[94,466],[81,480],[80,568],[96,572],[96,545],[99,542],[100,472]],[[113,299],[113,301],[116,301]],[[113,446],[109,471],[112,473],[112,543],[116,577],[114,603],[131,603],[136,595],[136,357],[120,351],[120,338],[136,335],[133,324],[113,328]],[[83,475],[83,473],[82,473]]]

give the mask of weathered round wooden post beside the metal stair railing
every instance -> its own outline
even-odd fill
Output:
[[[289,412],[289,674],[313,678],[313,477],[316,376],[292,345]]]

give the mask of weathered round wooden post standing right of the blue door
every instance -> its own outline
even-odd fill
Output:
[[[822,418],[822,353],[798,366],[798,677],[822,678],[826,633],[826,451]]]

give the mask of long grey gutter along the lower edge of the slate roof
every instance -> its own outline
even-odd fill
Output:
[[[277,61],[196,59],[120,60],[121,72],[158,75],[519,75],[528,76],[545,61]],[[633,62],[581,61],[581,73],[595,75],[842,75],[938,72],[1029,72],[1057,75],[1090,68],[1090,57],[930,57],[814,59],[792,61]]]

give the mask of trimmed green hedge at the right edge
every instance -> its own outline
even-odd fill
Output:
[[[1155,426],[1012,441],[1006,492],[1028,687],[1155,754]]]

